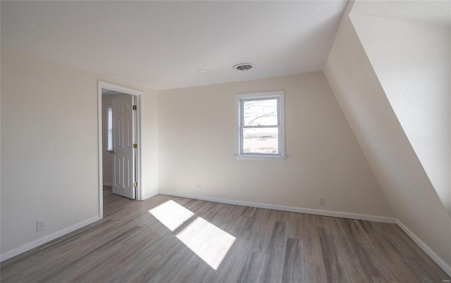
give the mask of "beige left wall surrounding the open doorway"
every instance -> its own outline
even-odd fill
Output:
[[[98,80],[144,91],[143,195],[158,191],[156,91],[2,47],[2,260],[99,215]]]

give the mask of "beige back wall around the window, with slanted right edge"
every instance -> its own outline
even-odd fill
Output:
[[[275,90],[288,158],[237,159],[235,94]],[[322,72],[159,91],[159,160],[161,191],[392,215]]]

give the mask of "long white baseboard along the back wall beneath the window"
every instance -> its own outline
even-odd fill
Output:
[[[178,196],[178,197],[188,198],[188,199],[199,199],[201,201],[214,201],[216,203],[227,203],[227,204],[234,204],[237,206],[251,206],[251,207],[255,207],[255,208],[268,208],[268,209],[275,209],[275,210],[290,211],[290,212],[295,212],[295,213],[306,213],[306,214],[314,214],[314,215],[321,215],[321,216],[350,218],[350,219],[368,220],[368,221],[376,221],[376,222],[384,222],[384,223],[396,223],[395,218],[376,216],[376,215],[342,213],[342,212],[330,211],[330,210],[319,210],[319,209],[312,209],[312,208],[297,208],[297,207],[292,207],[292,206],[276,206],[273,204],[251,203],[251,202],[247,202],[247,201],[233,201],[230,199],[217,199],[217,198],[212,198],[209,196],[199,196],[199,195],[193,195],[193,194],[178,194],[178,193],[174,193],[172,191],[159,191],[159,192],[160,192],[160,194],[166,194],[168,196]]]

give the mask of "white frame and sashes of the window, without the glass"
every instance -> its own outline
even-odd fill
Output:
[[[277,100],[277,112],[278,112],[278,153],[244,153],[243,152],[243,134],[242,128],[244,126],[244,102],[245,101],[256,101],[256,100]],[[236,105],[236,117],[237,117],[237,146],[235,150],[235,156],[237,158],[244,159],[260,159],[260,160],[278,160],[284,161],[285,156],[285,121],[284,121],[284,92],[257,92],[250,94],[236,94],[235,95],[235,105]],[[266,127],[266,126],[257,126]],[[271,125],[271,127],[273,127]]]

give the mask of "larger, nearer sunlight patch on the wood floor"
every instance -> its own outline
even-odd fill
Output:
[[[214,270],[235,241],[235,237],[199,217],[178,233],[177,238]]]

